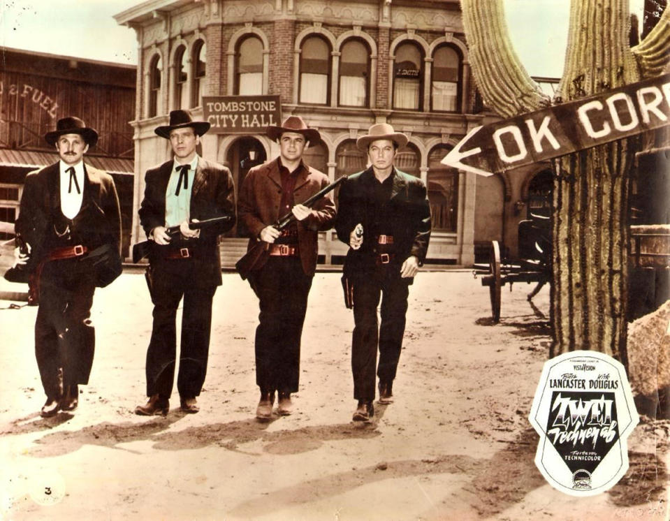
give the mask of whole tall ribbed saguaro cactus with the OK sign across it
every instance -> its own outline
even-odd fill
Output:
[[[470,63],[483,100],[502,117],[654,78],[670,61],[670,13],[629,45],[628,0],[572,0],[557,98],[541,93],[511,47],[502,0],[461,0]],[[537,27],[541,31],[541,27]],[[639,140],[553,163],[554,342],[550,355],[592,349],[627,365],[627,211]]]

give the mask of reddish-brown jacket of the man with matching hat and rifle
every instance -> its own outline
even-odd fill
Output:
[[[303,203],[316,192],[330,184],[328,177],[306,166],[304,163],[293,188],[293,200]],[[276,223],[284,215],[279,215],[282,200],[282,176],[279,173],[279,159],[273,159],[249,170],[240,189],[238,214],[240,233],[249,237],[248,249],[258,241],[261,230]],[[335,219],[335,204],[330,193],[316,201],[312,214],[298,221],[298,248],[303,271],[313,275],[316,257],[319,254],[319,231],[328,230]],[[260,266],[259,266],[260,267]]]

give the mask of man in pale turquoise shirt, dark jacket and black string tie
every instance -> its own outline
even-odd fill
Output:
[[[170,140],[174,159],[147,170],[140,224],[154,241],[147,281],[154,303],[154,323],[147,350],[147,396],[135,412],[167,414],[175,376],[177,307],[184,298],[177,390],[182,411],[199,411],[207,372],[212,298],[221,285],[218,237],[235,225],[235,191],[230,170],[198,156],[196,147],[210,129],[185,110],[170,112],[170,124],[155,132]],[[191,230],[189,221],[231,217],[224,223]],[[180,235],[166,229],[180,226]]]

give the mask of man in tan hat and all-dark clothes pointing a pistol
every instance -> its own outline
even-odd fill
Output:
[[[374,414],[374,369],[379,344],[379,403],[393,401],[393,379],[405,334],[409,284],[425,260],[430,239],[430,205],[421,179],[393,162],[407,135],[374,124],[356,140],[370,168],[350,175],[340,187],[337,237],[351,247],[344,276],[353,286],[354,337],[351,368],[358,408],[354,421]],[[381,325],[377,305],[381,295]]]

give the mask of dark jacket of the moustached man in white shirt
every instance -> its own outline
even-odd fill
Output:
[[[121,212],[112,176],[84,163],[82,206],[74,219],[61,212],[59,163],[26,176],[20,213],[15,223],[17,235],[31,245],[31,263],[43,258],[50,249],[82,244],[89,250],[111,244],[121,251]],[[70,228],[70,239],[57,237],[58,230]]]

